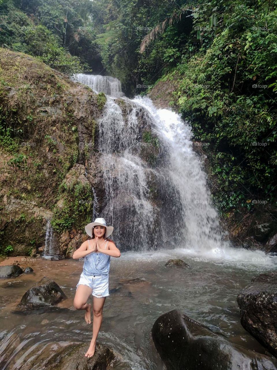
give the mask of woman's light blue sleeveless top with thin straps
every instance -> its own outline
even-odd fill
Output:
[[[89,240],[88,240],[89,242]],[[105,245],[107,248],[108,240]],[[89,244],[90,248],[90,244]],[[110,256],[101,252],[92,252],[84,257],[83,274],[91,275],[108,275],[110,271]]]

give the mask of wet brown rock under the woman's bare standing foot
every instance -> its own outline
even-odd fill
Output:
[[[55,370],[106,370],[119,366],[123,358],[120,354],[115,353],[113,350],[96,343],[95,353],[89,359],[85,357],[88,350],[89,343],[77,344],[68,346],[64,351],[51,356],[45,363],[44,369]],[[118,367],[122,370],[127,367]]]

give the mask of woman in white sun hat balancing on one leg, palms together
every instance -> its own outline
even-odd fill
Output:
[[[91,240],[86,240],[73,253],[73,259],[84,260],[83,272],[76,285],[74,307],[85,310],[85,320],[90,324],[90,307],[88,297],[93,296],[93,325],[92,340],[86,357],[92,357],[95,352],[96,338],[102,324],[102,312],[106,297],[109,296],[110,257],[120,257],[120,250],[111,239],[107,239],[113,232],[113,226],[107,226],[103,218],[96,218],[94,222],[85,226],[86,233]]]

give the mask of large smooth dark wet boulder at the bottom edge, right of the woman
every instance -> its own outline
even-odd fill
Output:
[[[168,370],[276,370],[277,360],[230,343],[179,310],[152,328],[155,347]]]

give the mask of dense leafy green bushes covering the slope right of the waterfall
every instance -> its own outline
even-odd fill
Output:
[[[277,80],[277,12],[259,1],[233,2],[223,13],[213,2],[199,9],[194,24],[203,30],[202,47],[174,71],[175,98],[195,138],[208,145],[215,200],[222,210],[250,209],[253,194],[276,202],[277,106],[270,87]],[[206,23],[212,10],[217,34],[211,19]]]

